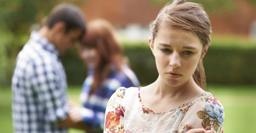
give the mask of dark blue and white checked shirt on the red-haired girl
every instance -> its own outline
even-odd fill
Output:
[[[80,100],[84,107],[81,114],[83,116],[83,122],[87,126],[93,129],[103,130],[106,106],[111,95],[118,87],[129,88],[140,86],[135,73],[127,65],[122,66],[122,71],[118,71],[113,66],[107,79],[97,88],[94,94],[89,95],[93,83],[93,70],[89,70],[80,95]]]

